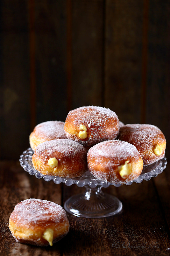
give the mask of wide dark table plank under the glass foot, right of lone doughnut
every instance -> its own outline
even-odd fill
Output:
[[[159,174],[159,179],[162,179]],[[63,187],[63,201],[80,193],[75,186]],[[169,229],[162,215],[153,181],[143,181],[104,192],[117,196],[123,211],[112,217],[86,219],[68,214],[70,231],[63,255],[169,255]]]

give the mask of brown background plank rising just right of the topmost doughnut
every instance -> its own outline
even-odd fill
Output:
[[[141,121],[143,1],[106,1],[105,106]]]

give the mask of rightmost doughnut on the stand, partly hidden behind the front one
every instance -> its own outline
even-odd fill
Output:
[[[165,156],[166,139],[155,125],[126,124],[120,128],[118,139],[133,144],[141,154],[144,165],[152,164]]]

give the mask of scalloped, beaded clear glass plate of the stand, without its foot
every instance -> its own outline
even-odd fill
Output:
[[[28,148],[23,152],[20,156],[20,165],[24,168],[26,172],[29,172],[30,175],[35,175],[36,178],[43,178],[45,181],[53,180],[54,183],[60,184],[61,182],[65,183],[67,186],[71,186],[72,184],[76,184],[78,187],[89,186],[90,188],[96,188],[96,186],[102,186],[103,188],[107,188],[110,185],[114,185],[115,187],[120,187],[123,184],[131,185],[133,182],[141,183],[143,180],[150,180],[152,177],[158,176],[158,174],[162,173],[166,168],[166,157],[159,160],[158,162],[150,165],[145,165],[140,176],[126,183],[111,183],[108,181],[97,180],[95,177],[91,175],[89,171],[85,172],[81,177],[76,178],[62,178],[59,176],[51,176],[44,175],[33,168],[32,165],[32,155],[33,151],[31,148]]]

